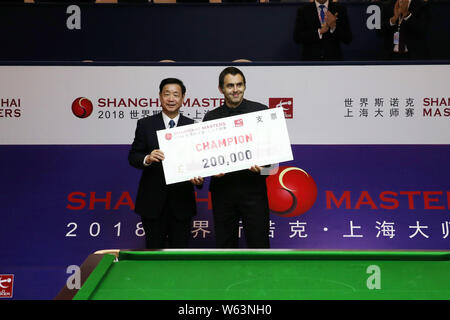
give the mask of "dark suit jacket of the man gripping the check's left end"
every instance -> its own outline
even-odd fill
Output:
[[[177,126],[194,123],[180,114]],[[128,153],[129,163],[142,170],[136,197],[135,212],[148,218],[158,217],[165,205],[169,205],[180,219],[196,214],[194,186],[190,181],[166,185],[161,162],[144,166],[144,158],[152,150],[159,149],[156,131],[165,129],[162,114],[138,120],[133,144]],[[164,150],[162,150],[164,152]]]

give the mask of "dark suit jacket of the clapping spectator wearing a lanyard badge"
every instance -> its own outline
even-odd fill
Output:
[[[394,15],[396,0],[389,1],[383,6],[382,24],[380,33],[383,36],[383,51],[381,58],[390,59],[394,49],[394,33],[397,25],[391,26],[389,19]],[[405,39],[410,59],[427,59],[429,57],[426,41],[430,12],[428,3],[422,0],[412,0],[409,5],[411,17],[400,25],[400,34]],[[442,39],[442,41],[446,41]]]

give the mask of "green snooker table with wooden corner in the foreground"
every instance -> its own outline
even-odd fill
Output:
[[[75,300],[448,300],[450,251],[110,250]]]

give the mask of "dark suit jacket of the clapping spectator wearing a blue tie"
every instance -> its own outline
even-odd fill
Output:
[[[341,42],[349,44],[352,32],[347,16],[347,9],[337,3],[328,2],[328,10],[336,14],[336,29],[319,38],[320,19],[315,3],[308,3],[298,9],[294,30],[294,41],[302,44],[302,60],[341,60]]]

